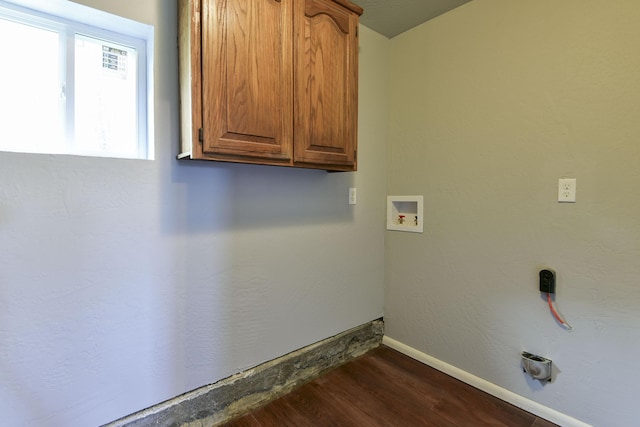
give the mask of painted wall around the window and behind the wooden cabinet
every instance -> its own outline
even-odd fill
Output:
[[[388,40],[358,172],[187,164],[175,2],[81,3],[155,26],[156,160],[0,153],[0,423],[100,425],[380,317]]]

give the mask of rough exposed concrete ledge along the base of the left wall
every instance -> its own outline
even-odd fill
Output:
[[[373,320],[103,427],[211,427],[251,412],[382,342]]]

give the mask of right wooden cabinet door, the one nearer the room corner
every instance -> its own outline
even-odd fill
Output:
[[[294,162],[355,170],[358,14],[331,0],[296,1]]]

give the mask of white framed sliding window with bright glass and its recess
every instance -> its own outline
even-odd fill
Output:
[[[153,159],[153,27],[0,0],[0,151]]]

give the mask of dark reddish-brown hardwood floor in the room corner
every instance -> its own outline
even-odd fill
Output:
[[[552,427],[546,420],[381,346],[226,427]]]

